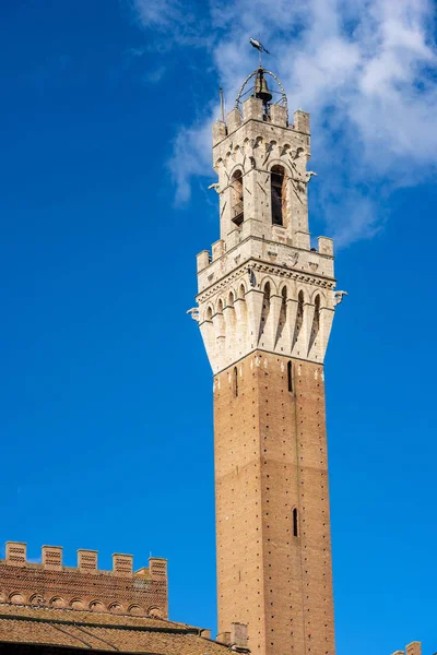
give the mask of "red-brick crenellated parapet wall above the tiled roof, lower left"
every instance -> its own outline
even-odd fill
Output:
[[[28,562],[26,544],[8,541],[0,560],[0,603],[166,618],[167,561],[149,558],[133,571],[133,557],[113,555],[111,571],[97,568],[96,550],[78,550],[78,565],[66,567],[62,548],[43,546],[42,562]]]

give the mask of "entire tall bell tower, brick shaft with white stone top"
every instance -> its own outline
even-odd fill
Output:
[[[194,317],[214,376],[218,630],[247,623],[253,655],[334,655],[323,358],[339,296],[332,240],[310,246],[309,156],[309,115],[288,122],[259,68],[213,127],[221,238],[198,255]]]

